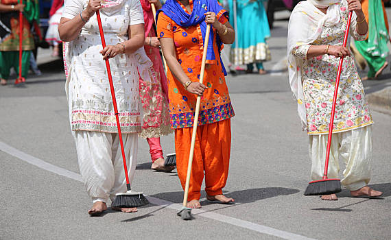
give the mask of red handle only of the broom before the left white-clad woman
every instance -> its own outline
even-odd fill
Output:
[[[105,47],[106,47],[106,41],[104,40],[104,33],[103,33],[102,21],[100,20],[99,10],[97,10],[96,13],[97,13],[98,26],[99,26],[100,39],[102,40],[102,47],[105,48]],[[111,77],[111,71],[110,71],[110,63],[108,62],[108,58],[106,58],[106,69],[107,69],[107,75],[108,75],[108,82],[109,82],[109,84],[110,84],[110,92],[111,92],[111,98],[112,98],[112,105],[114,106],[115,120],[117,120],[117,128],[118,128],[119,143],[120,143],[120,145],[121,145],[121,153],[122,153],[122,160],[123,160],[123,169],[125,170],[125,177],[126,177],[126,188],[128,189],[128,191],[130,191],[130,182],[129,182],[129,176],[128,176],[128,167],[126,167],[126,158],[125,158],[125,150],[123,149],[122,134],[121,134],[121,125],[119,125],[117,101],[115,100],[114,85],[112,84],[112,77]]]

